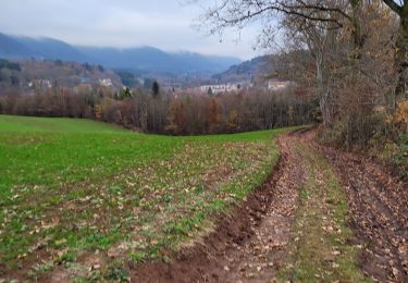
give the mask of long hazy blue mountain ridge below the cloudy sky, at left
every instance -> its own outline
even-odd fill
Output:
[[[149,75],[212,75],[242,62],[237,58],[164,52],[153,47],[128,49],[74,47],[52,38],[37,39],[3,34],[0,34],[0,58],[88,62]]]

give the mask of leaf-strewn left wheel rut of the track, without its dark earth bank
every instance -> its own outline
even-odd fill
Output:
[[[295,220],[298,188],[304,180],[299,155],[293,148],[294,136],[277,139],[282,160],[275,175],[264,184],[270,194],[261,214],[251,216],[251,237],[233,243],[217,260],[219,268],[207,272],[219,282],[267,282],[282,266],[290,227]],[[269,207],[268,207],[269,205]],[[265,212],[265,213],[264,213]]]

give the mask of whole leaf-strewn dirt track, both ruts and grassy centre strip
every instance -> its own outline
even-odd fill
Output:
[[[132,281],[360,282],[364,273],[408,282],[407,186],[312,136],[300,131],[277,138],[274,173],[240,208],[201,244],[171,263],[137,268]]]

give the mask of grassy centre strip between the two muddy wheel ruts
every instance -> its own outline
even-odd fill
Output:
[[[369,282],[356,264],[359,247],[346,196],[330,164],[311,148],[298,145],[306,169],[288,258],[282,282]]]

